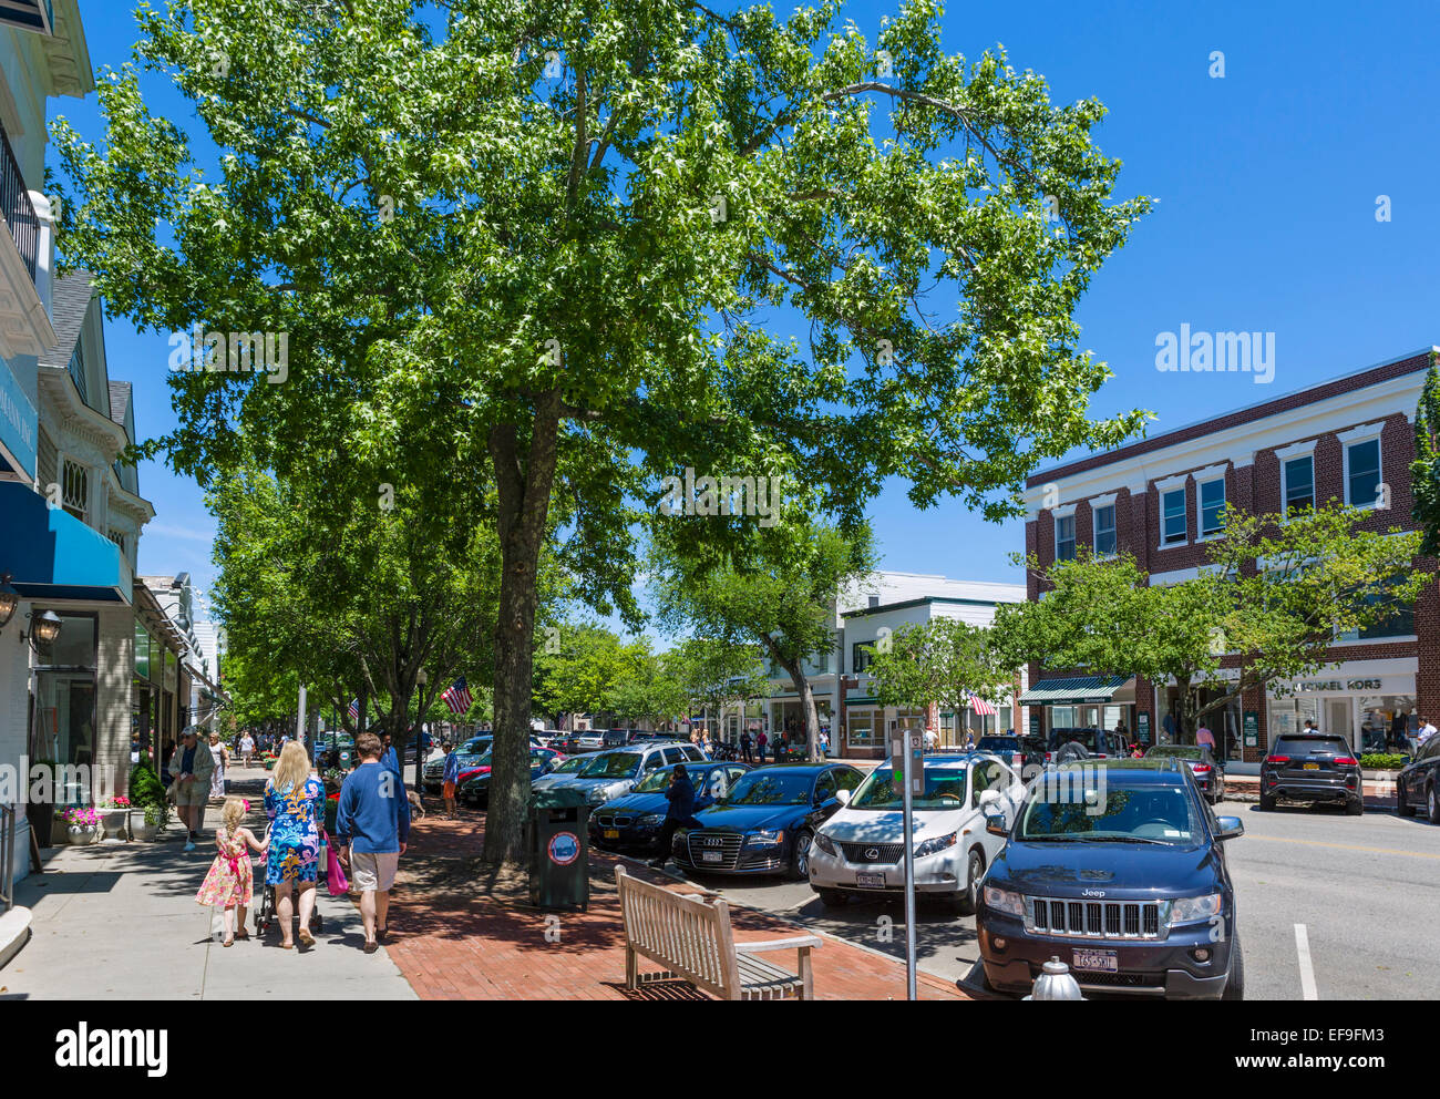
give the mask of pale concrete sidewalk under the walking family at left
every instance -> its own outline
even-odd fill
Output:
[[[232,768],[232,792],[251,799],[251,827],[264,835],[265,771]],[[194,902],[215,856],[219,808],[206,834],[183,851],[171,822],[151,844],[99,843],[46,850],[45,873],[16,886],[32,910],[30,942],[0,969],[0,1000],[416,1000],[384,948],[361,952],[360,910],[324,884],[324,932],[312,951],[265,941],[220,946],[219,913]],[[264,873],[256,867],[255,900]]]

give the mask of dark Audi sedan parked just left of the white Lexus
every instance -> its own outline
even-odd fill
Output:
[[[786,873],[805,880],[815,830],[848,799],[864,775],[848,763],[772,763],[740,776],[698,828],[677,831],[672,854],[691,870]]]

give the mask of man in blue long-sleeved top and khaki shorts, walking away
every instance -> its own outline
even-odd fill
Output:
[[[350,883],[360,890],[360,919],[364,923],[364,952],[374,954],[390,926],[390,887],[410,838],[410,804],[380,762],[380,739],[374,733],[356,737],[360,766],[340,788],[336,808],[336,841],[340,861],[350,870]]]

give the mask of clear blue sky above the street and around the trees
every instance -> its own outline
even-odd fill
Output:
[[[873,39],[894,4],[847,12]],[[135,39],[130,4],[81,0],[81,13],[96,68],[121,65]],[[1115,372],[1096,413],[1145,408],[1164,429],[1440,343],[1433,3],[971,3],[952,4],[943,26],[949,52],[1002,43],[1056,101],[1099,97],[1110,114],[1097,141],[1125,161],[1120,193],[1159,200],[1079,314],[1083,346]],[[189,104],[160,84],[147,92],[153,111],[194,133]],[[94,97],[52,109],[102,135]],[[1382,194],[1390,222],[1375,217]],[[1156,336],[1181,324],[1274,333],[1274,380],[1159,373]],[[107,349],[111,376],[135,383],[140,434],[167,431],[164,337],[112,317]],[[199,488],[154,462],[140,480],[157,511],[141,572],[189,570],[204,586],[213,521]],[[873,517],[883,568],[1022,580],[1008,559],[1024,543],[1020,523],[988,524],[956,504],[916,511],[899,484]]]

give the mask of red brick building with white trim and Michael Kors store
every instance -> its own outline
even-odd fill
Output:
[[[1416,403],[1430,349],[1296,393],[1162,432],[1106,454],[1041,471],[1027,483],[1025,550],[1043,566],[1073,556],[1129,552],[1151,583],[1195,576],[1208,562],[1225,504],[1284,513],[1328,500],[1368,507],[1365,529],[1413,529],[1410,461]],[[1434,570],[1421,559],[1417,568]],[[1030,578],[1028,596],[1038,585]],[[1382,750],[1418,716],[1440,719],[1440,592],[1359,637],[1339,637],[1335,664],[1292,684],[1292,697],[1246,691],[1207,719],[1227,759],[1254,762],[1269,742],[1315,719],[1356,750]],[[1240,658],[1225,664],[1238,667]],[[1224,670],[1223,670],[1224,671]],[[1233,674],[1233,673],[1231,673]],[[1171,739],[1174,687],[1142,678],[1066,678],[1030,668],[1024,727],[1126,727],[1149,742]]]

